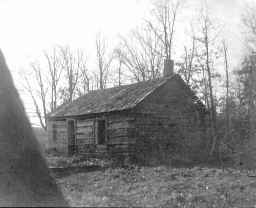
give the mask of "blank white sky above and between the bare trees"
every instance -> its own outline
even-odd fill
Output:
[[[230,49],[229,62],[239,60],[243,40],[239,30],[240,14],[249,2],[242,0],[212,0],[214,16],[225,23],[223,37]],[[184,21],[194,16],[200,0],[187,0],[177,22],[175,45],[182,46]],[[115,42],[117,33],[125,34],[142,24],[150,0],[0,0],[0,48],[5,54],[16,86],[20,67],[26,68],[42,50],[54,44],[69,43],[72,47],[93,49],[98,30]],[[90,53],[90,52],[89,52]],[[93,62],[93,60],[90,60]],[[23,95],[21,97],[24,99]],[[26,107],[26,106],[25,106]]]

